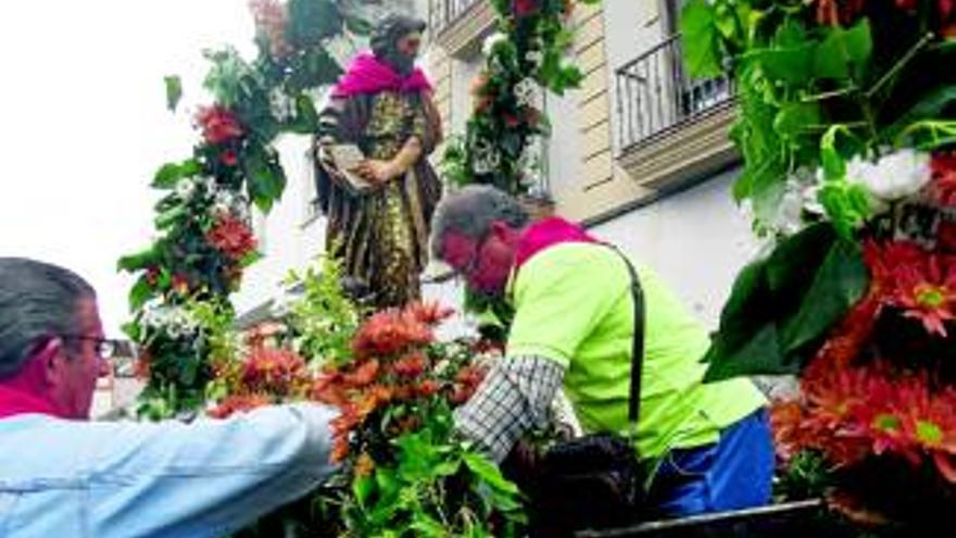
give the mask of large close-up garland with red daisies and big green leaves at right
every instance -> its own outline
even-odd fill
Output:
[[[733,72],[734,193],[767,252],[734,285],[708,377],[797,374],[772,413],[784,462],[817,462],[816,492],[853,517],[945,520],[956,76],[935,66],[956,54],[952,2],[694,0],[682,29],[692,72]]]

